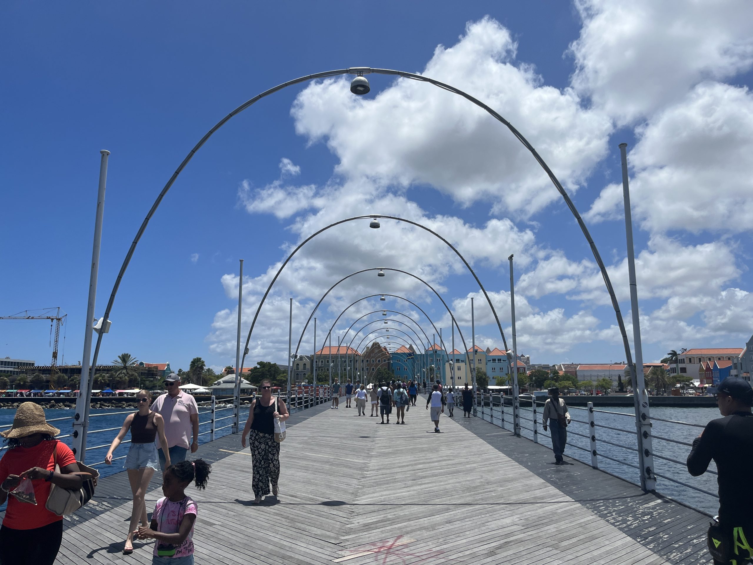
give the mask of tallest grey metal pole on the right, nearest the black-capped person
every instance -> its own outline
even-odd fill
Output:
[[[636,362],[630,368],[633,377],[633,406],[636,409],[641,488],[655,490],[654,449],[651,442],[651,416],[648,411],[648,393],[643,377],[643,349],[641,346],[641,320],[638,311],[638,285],[636,282],[636,255],[633,249],[633,218],[630,214],[630,187],[627,178],[627,144],[620,143],[622,161],[622,194],[625,203],[625,235],[627,238],[627,270],[630,276],[630,307],[633,310],[633,347]]]

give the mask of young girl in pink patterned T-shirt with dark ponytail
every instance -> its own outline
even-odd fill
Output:
[[[154,539],[152,565],[194,565],[194,523],[198,507],[186,487],[194,481],[206,487],[212,466],[203,459],[169,466],[162,479],[162,493],[152,513],[151,524],[133,532],[140,539]]]

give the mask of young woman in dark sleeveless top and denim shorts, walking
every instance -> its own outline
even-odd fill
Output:
[[[136,393],[136,405],[139,407],[139,411],[128,414],[117,437],[112,440],[105,457],[105,463],[111,465],[113,451],[120,445],[130,429],[131,447],[126,456],[126,469],[128,469],[128,481],[131,484],[131,492],[133,492],[133,512],[131,512],[128,537],[123,546],[123,553],[125,554],[133,553],[133,532],[138,529],[139,520],[144,526],[149,525],[144,495],[154,472],[160,468],[157,445],[154,444],[154,438],[157,437],[157,434],[160,435],[161,444],[167,445],[165,421],[160,414],[149,410],[151,393],[148,390],[139,390]],[[165,469],[170,466],[169,454],[166,454],[166,457]]]

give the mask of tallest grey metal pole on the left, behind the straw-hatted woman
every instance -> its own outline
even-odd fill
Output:
[[[102,218],[105,215],[105,188],[107,185],[107,160],[110,151],[99,151],[99,188],[96,197],[96,215],[94,217],[94,244],[92,246],[92,264],[89,273],[89,301],[87,302],[86,327],[84,328],[84,356],[81,358],[81,384],[78,386],[76,415],[73,420],[73,453],[76,459],[84,462],[86,458],[87,428],[89,426],[89,406],[91,404],[91,382],[89,363],[92,353],[92,331],[94,306],[96,303],[96,282],[99,274],[99,247],[102,243]],[[107,320],[102,320],[102,329],[107,329]]]

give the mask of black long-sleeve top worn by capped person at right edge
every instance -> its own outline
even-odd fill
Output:
[[[693,441],[687,471],[703,475],[712,459],[719,473],[719,520],[730,526],[753,523],[753,414],[736,412],[709,422]]]

